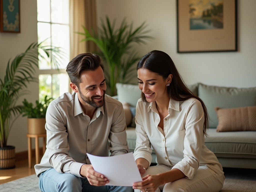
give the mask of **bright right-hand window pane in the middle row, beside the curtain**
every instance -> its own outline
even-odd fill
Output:
[[[52,24],[51,25],[51,39],[52,45],[55,47],[61,47],[65,52],[65,56],[60,61],[60,69],[65,69],[69,63],[69,26]]]

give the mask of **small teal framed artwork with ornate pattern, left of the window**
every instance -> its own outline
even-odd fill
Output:
[[[20,33],[19,0],[0,0],[0,31]]]

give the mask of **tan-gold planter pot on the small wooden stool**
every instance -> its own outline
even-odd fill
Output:
[[[28,134],[46,133],[45,118],[28,118]]]

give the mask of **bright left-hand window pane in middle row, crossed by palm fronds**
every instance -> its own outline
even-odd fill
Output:
[[[37,23],[37,36],[38,36],[38,42],[42,42],[44,40],[44,43],[42,45],[50,46],[51,45],[51,24],[49,23]],[[39,50],[40,54],[42,54],[44,57],[46,57],[46,54],[44,54],[41,50]],[[39,60],[39,69],[51,69],[51,65],[49,61],[46,60]]]

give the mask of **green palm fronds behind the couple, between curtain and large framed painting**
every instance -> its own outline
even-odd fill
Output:
[[[101,27],[98,28],[98,34],[92,29],[92,34],[88,29],[82,26],[85,38],[82,41],[93,41],[100,49],[100,55],[103,57],[108,66],[108,72],[105,71],[106,83],[110,88],[110,95],[116,94],[115,84],[129,83],[136,74],[133,72],[133,66],[136,61],[140,60],[136,50],[132,49],[134,43],[146,44],[146,39],[153,37],[145,35],[150,30],[145,30],[145,22],[133,30],[133,23],[127,24],[125,18],[120,27],[115,29],[115,20],[111,24],[106,17],[106,23],[101,20]]]

